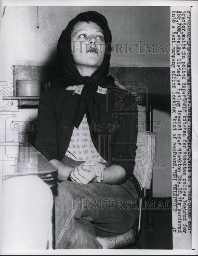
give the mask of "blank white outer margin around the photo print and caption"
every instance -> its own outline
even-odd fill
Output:
[[[197,12],[197,4],[198,1],[33,1],[33,0],[28,0],[28,1],[10,1],[10,0],[2,0],[1,1],[1,18],[0,18],[0,24],[2,27],[2,12],[3,12],[3,6],[5,5],[93,5],[93,6],[99,6],[99,5],[112,5],[112,6],[122,6],[122,5],[131,5],[131,6],[189,6],[191,5],[191,74],[192,74],[192,174],[194,175],[194,178],[192,179],[192,221],[194,223],[197,223],[197,135],[198,135],[198,123],[197,123],[197,110],[198,110],[198,100],[196,98],[196,95],[198,95],[198,89],[197,89],[197,31],[198,31],[198,12]],[[67,4],[66,4],[67,3]],[[2,77],[2,31],[1,31],[1,39],[0,39],[0,77]],[[0,95],[0,104],[2,104],[2,95]],[[2,106],[2,105],[1,105]],[[2,123],[0,115],[0,123]],[[2,126],[0,127],[2,131]],[[1,139],[1,138],[0,138]],[[1,186],[1,202],[2,202],[2,173],[1,173],[1,181],[0,181],[0,186]],[[2,212],[2,204],[1,204],[1,212]],[[2,218],[0,225],[2,227]],[[192,229],[192,246],[194,250],[135,250],[133,253],[140,255],[140,254],[147,254],[151,255],[197,255],[197,226],[193,227]],[[34,251],[20,251],[20,252],[15,252],[15,255],[37,255],[36,252],[37,250]],[[61,252],[63,251],[63,252]],[[85,252],[86,251],[86,252]],[[80,253],[81,255],[91,255],[93,252],[92,250],[53,250],[52,252],[46,251],[46,250],[39,250],[38,255],[61,255],[62,253],[65,254],[70,254],[70,255],[77,255]],[[123,250],[116,250],[117,255],[121,255],[123,253]],[[125,254],[130,255],[131,251],[130,250],[124,250]],[[114,255],[115,251],[114,250],[97,250],[94,251],[94,254],[100,255],[100,254],[109,254],[109,255]],[[8,254],[2,254],[2,255],[8,255]]]

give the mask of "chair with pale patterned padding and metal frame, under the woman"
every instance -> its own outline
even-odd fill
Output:
[[[156,137],[154,133],[138,131],[134,175],[140,184],[142,192],[144,192],[144,189],[149,189],[151,186],[155,146]],[[118,235],[97,235],[96,238],[99,243],[102,244],[103,249],[117,249],[129,244],[135,244],[139,240],[142,228],[143,198],[138,198],[137,202],[139,207],[139,217],[136,221],[136,225],[133,225],[129,231]]]

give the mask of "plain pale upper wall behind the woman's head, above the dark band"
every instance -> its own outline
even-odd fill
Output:
[[[170,42],[169,7],[39,6],[37,28],[37,6],[6,6],[4,65],[56,66],[56,46],[62,30],[78,13],[87,10],[107,17],[113,45],[144,41],[150,47],[156,44],[156,49],[162,44],[165,49]],[[113,54],[111,66],[169,67],[169,54]]]

